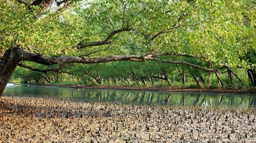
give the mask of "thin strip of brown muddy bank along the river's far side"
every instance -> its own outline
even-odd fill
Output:
[[[28,84],[31,86],[70,87],[83,89],[117,89],[133,91],[161,91],[161,92],[183,92],[183,93],[234,93],[255,94],[256,87],[247,88],[185,88],[185,87],[133,87],[133,86],[83,86],[83,85],[56,85],[56,84]]]

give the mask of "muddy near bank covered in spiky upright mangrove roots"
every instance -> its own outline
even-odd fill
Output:
[[[0,142],[255,142],[256,110],[0,98]]]

